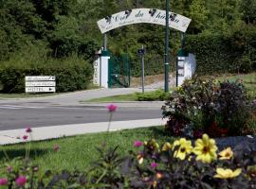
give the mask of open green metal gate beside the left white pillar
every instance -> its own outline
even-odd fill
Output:
[[[108,62],[108,87],[130,87],[130,59],[127,54],[120,57],[110,55]]]

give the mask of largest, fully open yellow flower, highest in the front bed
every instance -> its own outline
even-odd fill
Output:
[[[207,134],[204,134],[202,139],[197,139],[195,141],[193,153],[196,155],[197,161],[210,163],[212,160],[217,159],[217,149],[218,148],[215,145],[215,141],[210,139]]]

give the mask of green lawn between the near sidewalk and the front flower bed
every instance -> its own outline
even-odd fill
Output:
[[[30,158],[33,163],[39,165],[41,171],[46,169],[72,170],[78,167],[80,170],[88,167],[88,164],[96,161],[99,157],[96,147],[106,141],[107,146],[119,146],[119,153],[125,154],[134,149],[135,140],[148,140],[155,138],[157,142],[170,141],[162,126],[146,129],[125,129],[95,134],[84,134],[75,137],[64,137],[61,139],[48,140],[31,143]],[[53,146],[60,146],[55,152]],[[4,160],[3,148],[9,154],[9,158],[25,157],[26,144],[0,146],[0,163]]]

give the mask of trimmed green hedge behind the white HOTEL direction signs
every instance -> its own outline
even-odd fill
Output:
[[[55,76],[56,92],[86,89],[92,79],[92,66],[77,59],[47,60],[42,64],[6,63],[0,66],[2,93],[25,93],[26,76]]]

